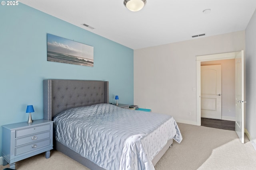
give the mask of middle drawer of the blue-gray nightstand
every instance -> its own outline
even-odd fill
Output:
[[[34,135],[20,138],[20,139],[16,139],[15,146],[17,147],[17,146],[24,145],[27,143],[40,141],[40,140],[46,139],[46,138],[50,138],[50,131],[47,131],[44,133],[39,133],[39,134],[34,134]]]

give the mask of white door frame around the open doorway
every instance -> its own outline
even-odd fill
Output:
[[[196,56],[196,125],[201,126],[201,62],[235,59],[240,52]]]

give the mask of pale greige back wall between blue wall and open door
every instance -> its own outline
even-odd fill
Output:
[[[196,56],[244,49],[238,31],[134,50],[134,104],[196,125]]]

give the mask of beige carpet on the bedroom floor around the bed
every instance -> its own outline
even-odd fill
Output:
[[[240,143],[236,132],[178,123],[183,141],[156,164],[156,170],[255,170],[256,151],[248,139]],[[0,166],[0,170],[9,167]],[[89,170],[52,150],[49,159],[39,154],[16,162],[17,170]]]

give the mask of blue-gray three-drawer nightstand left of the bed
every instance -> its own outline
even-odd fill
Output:
[[[3,125],[3,166],[9,163],[10,168],[15,169],[15,162],[42,152],[46,152],[45,157],[50,158],[50,150],[53,149],[52,126],[53,121],[46,119]]]

